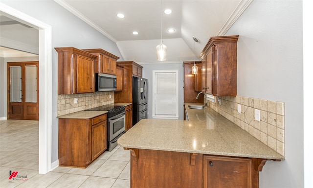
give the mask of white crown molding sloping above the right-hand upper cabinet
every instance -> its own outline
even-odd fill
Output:
[[[224,36],[253,0],[241,0],[216,36]]]

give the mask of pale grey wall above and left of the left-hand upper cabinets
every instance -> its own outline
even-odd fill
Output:
[[[102,48],[121,57],[116,44],[52,0],[1,0],[52,27],[52,48]],[[58,160],[57,52],[52,49],[52,163]],[[39,72],[40,73],[40,72]]]

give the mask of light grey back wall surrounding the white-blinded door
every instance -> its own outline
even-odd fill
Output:
[[[182,67],[182,62],[180,63],[171,63],[171,62],[160,62],[159,64],[140,64],[143,66],[142,69],[142,77],[148,79],[148,118],[152,118],[152,71],[154,70],[179,70],[179,119],[184,119],[184,111],[183,111],[183,105],[184,105],[184,70]]]

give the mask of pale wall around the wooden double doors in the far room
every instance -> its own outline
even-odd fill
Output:
[[[0,119],[7,119],[7,62],[38,61],[38,57],[1,57],[0,59]]]

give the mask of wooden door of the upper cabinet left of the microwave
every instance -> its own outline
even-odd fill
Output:
[[[93,59],[76,56],[76,93],[94,92]]]

